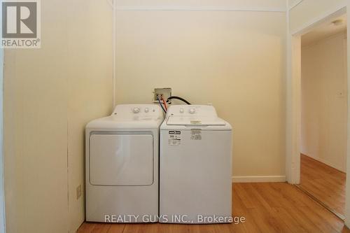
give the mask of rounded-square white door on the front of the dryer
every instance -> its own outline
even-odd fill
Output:
[[[152,185],[151,134],[90,135],[92,185]]]

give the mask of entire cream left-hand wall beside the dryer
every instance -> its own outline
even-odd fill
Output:
[[[41,1],[42,48],[6,50],[7,232],[75,232],[84,219],[85,124],[112,107],[112,13],[100,1]],[[84,195],[84,190],[83,190]]]

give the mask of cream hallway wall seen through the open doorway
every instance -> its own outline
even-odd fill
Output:
[[[301,152],[346,171],[346,34],[302,48]]]

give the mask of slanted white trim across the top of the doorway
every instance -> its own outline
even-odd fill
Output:
[[[345,13],[346,13],[346,5],[342,4],[340,6],[332,8],[332,10],[326,11],[322,15],[319,15],[313,20],[305,23],[304,25],[302,25],[302,27],[295,29],[290,34],[292,34],[293,36],[305,34],[309,32],[311,29],[314,29],[314,27],[318,26],[319,24],[322,24],[323,22],[328,21],[331,18],[344,15]]]

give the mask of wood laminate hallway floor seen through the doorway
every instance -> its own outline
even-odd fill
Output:
[[[300,185],[330,209],[344,216],[346,174],[306,155],[300,155]]]

